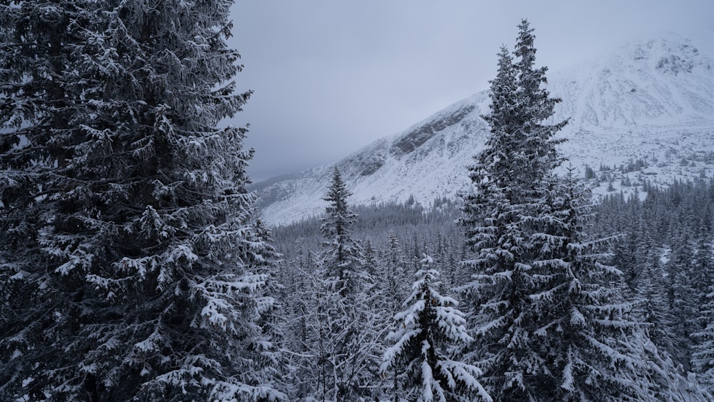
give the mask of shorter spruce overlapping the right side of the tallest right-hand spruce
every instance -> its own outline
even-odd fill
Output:
[[[530,296],[538,311],[533,344],[543,368],[535,373],[542,401],[670,400],[673,366],[660,358],[643,326],[632,321],[634,303],[623,300],[622,271],[604,262],[607,239],[586,240],[590,194],[574,178],[556,176],[543,208],[548,236],[533,266],[545,289]],[[643,380],[643,378],[648,378]],[[653,381],[653,383],[650,383]]]

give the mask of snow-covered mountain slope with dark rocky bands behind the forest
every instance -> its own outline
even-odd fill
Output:
[[[578,174],[593,169],[595,194],[633,191],[644,179],[714,176],[714,58],[706,53],[670,36],[549,71],[548,89],[563,99],[554,121],[570,119],[559,134],[568,139],[561,150]],[[488,91],[481,91],[338,161],[351,202],[413,196],[428,205],[466,189],[466,166],[488,136],[480,117],[488,104]],[[321,213],[333,166],[256,184],[265,220]]]

